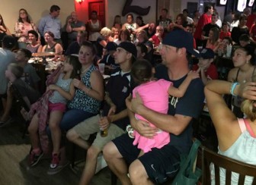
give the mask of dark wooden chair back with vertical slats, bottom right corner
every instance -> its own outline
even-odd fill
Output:
[[[219,167],[226,169],[226,185],[231,184],[232,171],[239,174],[238,185],[245,183],[245,175],[254,177],[253,183],[256,184],[256,165],[248,165],[242,161],[237,161],[228,158],[224,155],[219,155],[216,152],[200,146],[202,152],[202,170],[203,181],[202,184],[211,184],[210,178],[210,164],[213,163],[215,169],[215,184],[219,185]]]

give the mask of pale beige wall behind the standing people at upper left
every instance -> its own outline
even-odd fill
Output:
[[[62,25],[65,24],[66,17],[75,10],[74,0],[1,0],[0,14],[5,20],[5,25],[13,33],[21,8],[26,9],[34,23],[38,25],[40,18],[49,14],[51,5],[59,6]]]

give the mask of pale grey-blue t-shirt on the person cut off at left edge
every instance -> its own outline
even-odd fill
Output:
[[[0,94],[5,94],[7,90],[8,80],[5,77],[5,71],[8,64],[15,62],[15,55],[8,49],[0,48]]]

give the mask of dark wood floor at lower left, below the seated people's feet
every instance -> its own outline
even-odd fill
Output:
[[[59,174],[46,174],[49,168],[50,158],[44,157],[34,168],[27,168],[27,155],[30,151],[28,136],[21,138],[24,125],[20,121],[14,121],[6,127],[0,128],[0,184],[78,184],[84,163],[78,165],[78,173],[75,174],[69,166]],[[92,185],[110,184],[110,170],[102,169],[91,181]]]

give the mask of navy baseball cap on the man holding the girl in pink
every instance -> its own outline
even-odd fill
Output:
[[[188,53],[199,57],[199,52],[194,49],[194,39],[191,33],[188,33],[184,30],[174,30],[171,33],[168,33],[163,39],[162,44],[171,45],[175,48],[181,49],[185,48]]]

